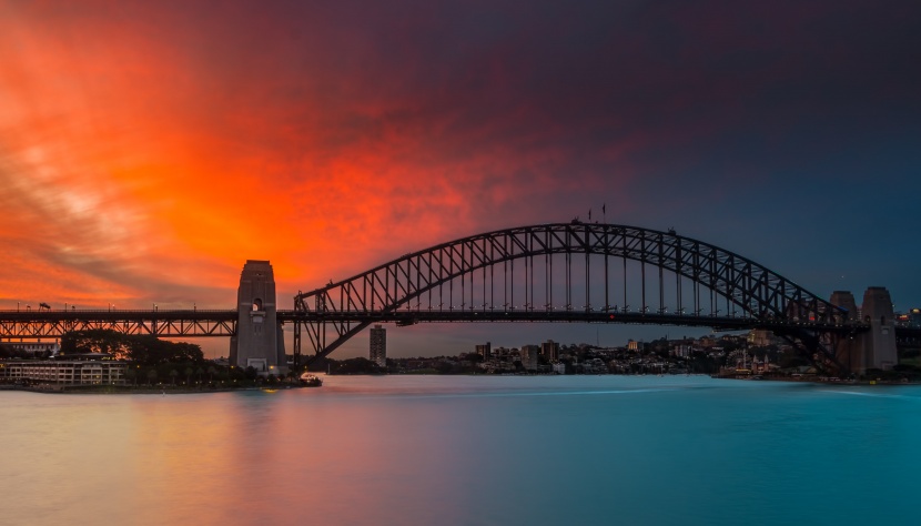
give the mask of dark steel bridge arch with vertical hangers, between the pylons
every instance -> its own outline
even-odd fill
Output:
[[[630,307],[632,303],[634,307]],[[405,254],[294,296],[295,360],[311,363],[375,322],[604,322],[768,328],[834,362],[867,330],[780,274],[716,245],[619,224],[498,230]]]

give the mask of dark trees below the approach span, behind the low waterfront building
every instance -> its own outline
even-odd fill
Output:
[[[149,334],[123,334],[101,328],[73,331],[61,337],[61,355],[87,353],[107,353],[140,365],[204,362],[204,353],[199,345],[168,342]]]

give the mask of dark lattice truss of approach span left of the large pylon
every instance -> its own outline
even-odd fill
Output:
[[[98,328],[161,337],[232,336],[236,317],[236,311],[6,311],[0,312],[0,338],[61,337]]]

